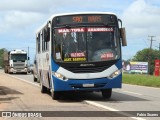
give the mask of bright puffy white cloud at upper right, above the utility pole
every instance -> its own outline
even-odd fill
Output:
[[[123,13],[123,23],[130,38],[140,38],[150,34],[157,35],[160,26],[160,8],[145,0],[136,0]]]

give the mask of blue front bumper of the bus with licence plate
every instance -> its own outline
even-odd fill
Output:
[[[61,80],[52,76],[54,91],[98,91],[108,88],[121,88],[122,74],[113,79],[97,78],[97,79],[68,79]]]

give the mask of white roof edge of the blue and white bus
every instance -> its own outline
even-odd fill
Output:
[[[112,13],[112,12],[73,12],[73,13],[54,14],[40,28],[37,29],[36,33],[39,33],[42,30],[42,28],[44,28],[47,25],[47,22],[51,21],[54,17],[65,16],[65,15],[77,15],[77,14],[111,14],[111,15],[116,15],[115,13]]]

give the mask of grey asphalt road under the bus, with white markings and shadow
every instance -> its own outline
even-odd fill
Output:
[[[4,73],[3,73],[4,74]],[[7,75],[8,76],[8,75]],[[23,81],[24,84],[31,84],[39,90],[39,84],[33,82],[32,74],[21,75],[21,74],[12,74],[8,77],[12,77],[13,79],[18,78],[18,80]],[[27,81],[27,82],[26,82]],[[46,94],[41,94],[41,97],[46,97]],[[35,96],[36,97],[36,96]],[[37,96],[38,97],[38,96]],[[50,99],[50,96],[47,95],[46,99]],[[46,100],[47,102],[47,100]],[[56,102],[57,101],[54,101]],[[69,107],[69,110],[73,111],[78,109],[78,107],[74,107],[74,105],[80,107],[78,110],[84,111],[133,111],[136,112],[137,115],[144,115],[144,117],[123,117],[123,118],[114,118],[114,119],[141,119],[141,120],[151,120],[151,119],[160,119],[160,112],[158,112],[159,117],[145,117],[146,112],[151,114],[156,114],[157,112],[152,111],[160,111],[160,88],[151,88],[151,87],[142,87],[136,85],[127,85],[123,84],[122,89],[113,89],[113,94],[111,99],[103,99],[100,92],[94,93],[76,93],[74,95],[66,95],[63,100],[58,101],[64,103],[73,103]],[[83,105],[86,105],[85,107]],[[83,108],[83,107],[84,108]],[[33,107],[33,106],[32,106]],[[36,106],[37,107],[37,106]],[[64,106],[63,106],[64,107]],[[67,106],[65,106],[67,108]],[[87,109],[86,109],[87,108]],[[33,109],[34,110],[34,109]],[[35,109],[36,110],[36,109]],[[144,114],[140,114],[144,113]],[[87,119],[90,119],[87,118]],[[102,118],[104,119],[104,118]],[[108,118],[113,119],[113,118]]]

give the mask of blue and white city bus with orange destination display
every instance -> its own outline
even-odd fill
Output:
[[[101,91],[110,98],[122,85],[125,35],[114,13],[53,15],[36,33],[41,92],[59,99],[66,91]]]

